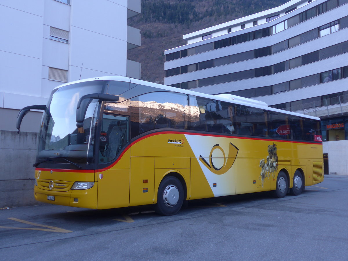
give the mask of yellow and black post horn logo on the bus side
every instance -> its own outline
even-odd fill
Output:
[[[220,150],[222,152],[223,165],[221,168],[216,168],[214,166],[213,157],[212,157],[214,150]],[[219,144],[215,144],[213,146],[212,150],[210,151],[209,163],[200,155],[199,155],[199,160],[208,169],[210,169],[211,172],[213,172],[214,174],[217,174],[217,175],[221,175],[221,174],[226,173],[232,167],[232,165],[235,163],[237,154],[238,154],[238,148],[235,145],[233,145],[232,143],[230,143],[229,150],[228,150],[228,157],[226,158],[226,155],[225,155],[225,152],[223,151],[223,149],[219,146]]]

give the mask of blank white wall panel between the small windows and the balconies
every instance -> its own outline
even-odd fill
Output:
[[[72,2],[70,36],[69,81],[80,78],[82,64],[81,79],[126,76],[126,1]]]

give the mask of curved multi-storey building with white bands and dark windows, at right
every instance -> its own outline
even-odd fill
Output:
[[[292,0],[183,35],[165,51],[165,84],[320,117],[325,173],[348,175],[347,2]]]

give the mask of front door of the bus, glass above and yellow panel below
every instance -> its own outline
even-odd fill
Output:
[[[129,117],[103,114],[98,156],[98,209],[129,206]]]

